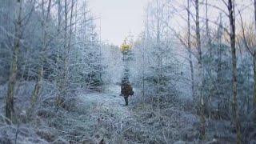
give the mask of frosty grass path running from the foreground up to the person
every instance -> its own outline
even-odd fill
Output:
[[[118,85],[107,86],[100,93],[82,92],[78,94],[80,104],[84,105],[87,114],[90,114],[91,136],[98,142],[102,138],[110,143],[134,143],[134,141],[137,143],[139,141],[131,130],[139,124],[132,112],[132,99],[134,98],[130,98],[129,106],[125,106],[124,98],[119,94],[120,86]]]

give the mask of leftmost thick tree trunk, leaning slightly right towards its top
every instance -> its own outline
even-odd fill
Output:
[[[8,84],[8,90],[6,95],[6,118],[9,120],[7,123],[13,122],[14,120],[14,87],[16,84],[17,77],[17,65],[18,65],[18,53],[20,49],[20,39],[22,38],[22,2],[18,2],[18,19],[15,23],[15,38],[14,38],[14,52],[12,54],[12,62],[10,66],[10,78]]]

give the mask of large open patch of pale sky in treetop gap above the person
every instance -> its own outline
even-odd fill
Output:
[[[120,46],[128,35],[137,38],[143,29],[144,8],[148,1],[89,0],[90,10],[102,21],[102,41]],[[98,26],[99,23],[98,20]]]

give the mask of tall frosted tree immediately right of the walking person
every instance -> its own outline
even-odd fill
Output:
[[[156,102],[165,102],[168,96],[177,94],[180,76],[179,63],[173,54],[174,37],[168,29],[171,18],[165,1],[150,2],[146,9],[145,29],[134,44],[135,78],[141,86],[142,94],[151,96]],[[166,97],[167,96],[167,97]],[[159,108],[159,107],[158,107]]]

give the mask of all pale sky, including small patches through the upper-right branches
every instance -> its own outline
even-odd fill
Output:
[[[126,36],[133,35],[134,39],[138,38],[138,34],[143,30],[145,7],[149,1],[150,0],[88,0],[89,8],[92,14],[94,14],[94,16],[97,18],[101,18],[101,22],[98,19],[96,23],[98,28],[100,27],[101,23],[102,41],[120,46]],[[186,1],[184,0],[174,0],[174,3],[175,2],[177,4],[186,4]],[[210,2],[217,2],[214,3],[215,6],[218,6],[219,2],[220,5],[223,5],[220,0],[214,0]],[[242,4],[248,5],[248,3],[251,3],[252,1],[237,0],[236,2],[239,4],[239,7],[241,6],[241,8],[238,9],[243,10],[243,17],[250,19],[251,14],[253,14],[253,9],[247,6],[246,9],[242,9]],[[200,7],[200,14],[205,14],[205,6]],[[210,18],[212,20],[216,19],[219,12],[217,12],[213,7],[210,7],[209,9],[213,9],[212,11],[209,10]],[[223,10],[226,10],[226,7],[224,7]],[[184,14],[183,16],[186,17],[186,11],[182,10],[179,11],[179,13],[182,15]],[[216,18],[214,18],[214,16]],[[184,27],[182,28],[182,24],[186,26],[186,22],[182,22],[180,18],[173,18],[173,23],[178,23],[174,25],[175,29],[177,30],[180,28],[184,29]]]

